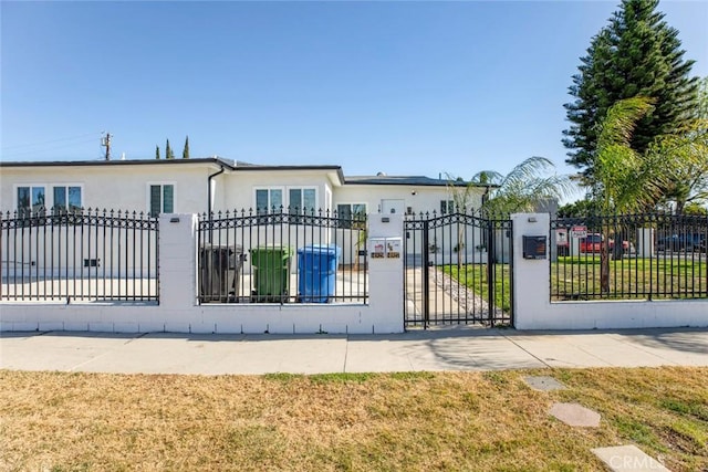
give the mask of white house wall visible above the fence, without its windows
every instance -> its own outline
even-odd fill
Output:
[[[53,185],[82,187],[84,208],[149,211],[150,183],[175,186],[175,212],[202,213],[208,207],[208,178],[220,170],[214,162],[132,164],[3,167],[0,174],[0,209],[17,209],[17,187],[43,185],[48,198]],[[382,200],[404,200],[413,212],[440,210],[441,200],[451,200],[444,186],[341,185],[331,169],[227,169],[212,178],[215,211],[249,209],[254,206],[257,188],[280,187],[285,204],[290,188],[315,188],[319,209],[335,210],[339,203],[366,203],[367,212],[381,211]],[[479,208],[481,189],[472,196],[470,207]],[[404,211],[405,211],[404,210]]]

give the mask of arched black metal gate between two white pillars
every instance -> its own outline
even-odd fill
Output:
[[[511,220],[425,213],[404,230],[406,327],[512,324]]]

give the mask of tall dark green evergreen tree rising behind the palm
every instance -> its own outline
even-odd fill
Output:
[[[654,109],[637,124],[632,148],[642,154],[656,136],[684,124],[696,104],[697,83],[689,77],[695,61],[683,59],[678,31],[657,12],[658,0],[622,0],[610,24],[593,36],[581,57],[566,103],[570,128],[563,144],[566,162],[583,170],[592,182],[598,124],[618,101],[634,96],[654,98]]]

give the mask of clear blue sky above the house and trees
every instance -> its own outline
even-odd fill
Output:
[[[564,165],[563,103],[618,1],[11,2],[0,159],[333,164],[345,175]],[[664,1],[708,76],[708,2]]]

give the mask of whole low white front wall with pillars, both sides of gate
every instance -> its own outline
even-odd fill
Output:
[[[179,221],[173,222],[174,218]],[[388,218],[388,221],[384,221]],[[160,303],[8,303],[0,331],[181,333],[399,333],[403,259],[369,258],[369,303],[208,304],[196,295],[196,214],[160,217]],[[708,327],[708,301],[550,302],[549,260],[523,259],[523,235],[549,234],[549,216],[512,216],[518,329]],[[400,216],[369,214],[372,239],[404,238]],[[546,254],[548,256],[548,254]]]

